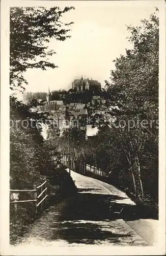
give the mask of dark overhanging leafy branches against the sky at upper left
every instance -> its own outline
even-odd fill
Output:
[[[69,38],[72,24],[62,23],[64,13],[74,7],[12,7],[10,8],[10,87],[24,89],[27,81],[23,73],[27,69],[57,68],[48,61],[48,57],[56,54],[49,50],[48,43],[51,38],[65,40]]]

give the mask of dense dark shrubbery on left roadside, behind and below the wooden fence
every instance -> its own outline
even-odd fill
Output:
[[[48,203],[56,202],[65,197],[73,196],[76,187],[72,178],[60,164],[56,147],[52,147],[43,140],[40,127],[29,125],[24,128],[22,120],[33,124],[39,120],[37,113],[32,113],[30,105],[25,105],[11,98],[10,118],[18,125],[10,129],[10,188],[33,189],[33,185],[40,185],[47,181],[49,198]],[[56,157],[55,157],[56,156]],[[33,193],[21,192],[19,200],[30,200]],[[34,221],[34,204],[20,203],[15,212],[14,205],[10,204],[10,240],[19,241],[26,231],[26,226]]]

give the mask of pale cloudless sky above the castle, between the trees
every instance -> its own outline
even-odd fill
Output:
[[[110,70],[114,69],[113,60],[125,54],[125,48],[132,48],[126,38],[130,35],[126,25],[140,26],[141,19],[148,19],[157,6],[154,1],[147,5],[146,1],[128,1],[125,5],[123,1],[87,2],[68,1],[68,6],[75,10],[65,13],[61,20],[74,22],[70,26],[71,38],[51,39],[49,44],[57,52],[50,60],[59,68],[28,70],[24,75],[29,82],[27,91],[47,92],[48,86],[50,91],[68,90],[72,80],[81,75],[98,80],[104,87],[104,80],[109,79]]]

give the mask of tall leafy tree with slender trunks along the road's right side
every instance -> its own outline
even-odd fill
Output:
[[[135,194],[143,199],[145,190],[157,198],[159,20],[154,13],[149,20],[142,20],[141,27],[127,29],[133,49],[126,49],[126,56],[114,60],[115,70],[110,72],[111,81],[106,81],[105,88],[112,115],[117,118],[113,131],[132,173]],[[127,126],[119,125],[122,120]]]

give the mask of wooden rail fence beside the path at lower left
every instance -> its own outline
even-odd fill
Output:
[[[32,192],[34,199],[19,201],[19,194],[24,192]],[[37,209],[39,206],[40,208],[42,208],[43,206],[46,205],[47,197],[48,197],[48,194],[47,194],[46,181],[44,181],[38,187],[34,185],[34,189],[10,189],[10,199],[11,199],[10,203],[14,204],[15,211],[17,211],[18,203],[34,202],[34,212],[37,213]]]

